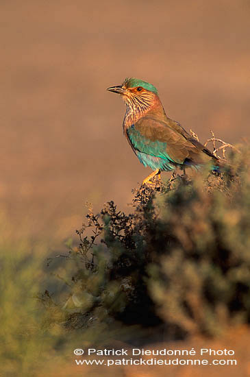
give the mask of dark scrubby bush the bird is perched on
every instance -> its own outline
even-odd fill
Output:
[[[67,326],[164,324],[176,339],[249,322],[248,160],[246,150],[223,174],[142,186],[128,215],[114,202],[90,210],[67,256],[76,266]]]

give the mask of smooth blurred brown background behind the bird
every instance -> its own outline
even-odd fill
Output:
[[[28,232],[79,228],[86,200],[121,208],[149,170],[105,88],[155,84],[201,141],[249,132],[249,0],[1,1],[1,208]]]

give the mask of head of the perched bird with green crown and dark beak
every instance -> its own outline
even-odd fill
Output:
[[[148,110],[158,98],[158,91],[149,82],[132,78],[126,78],[121,85],[111,86],[110,92],[118,93],[123,97],[125,104],[131,110]]]

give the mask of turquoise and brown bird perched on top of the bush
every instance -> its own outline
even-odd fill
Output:
[[[162,171],[177,168],[186,175],[186,167],[200,169],[210,163],[212,171],[219,171],[218,158],[166,115],[155,86],[127,77],[121,85],[107,90],[123,98],[126,105],[123,133],[139,161],[153,170],[142,184],[153,184],[156,175],[160,178]]]

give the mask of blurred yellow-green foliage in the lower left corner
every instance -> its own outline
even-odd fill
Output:
[[[10,232],[5,241],[5,221],[0,230],[0,376],[47,376],[56,363],[65,362],[67,348],[72,354],[75,343],[62,326],[62,312],[40,304],[39,292],[51,283],[42,268],[46,245],[10,241]]]

